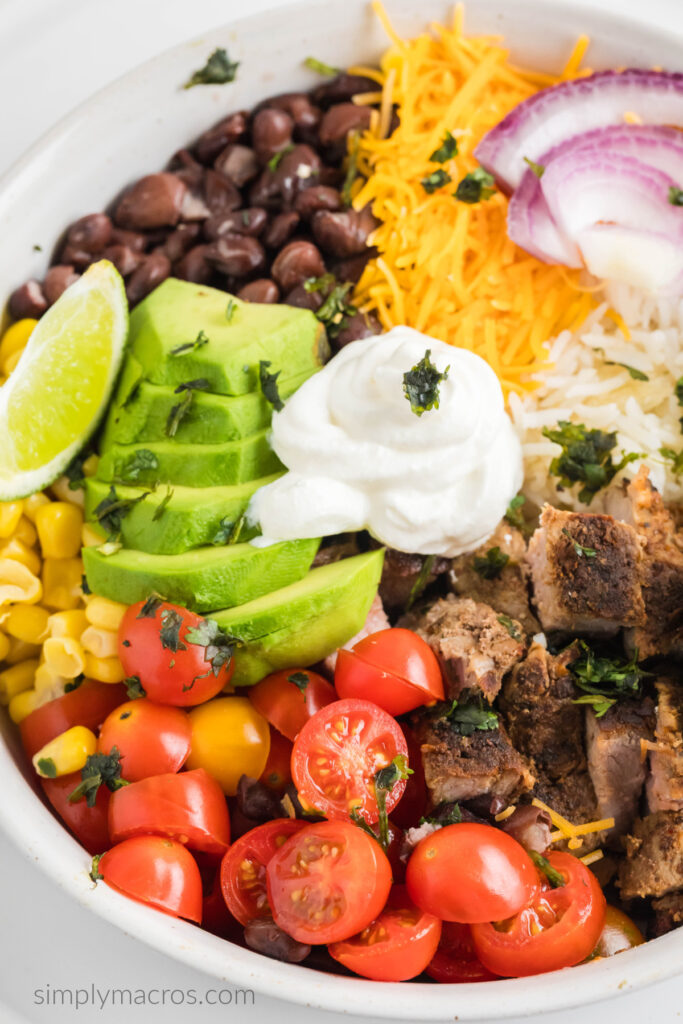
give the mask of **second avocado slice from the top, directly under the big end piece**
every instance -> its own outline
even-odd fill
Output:
[[[289,380],[279,378],[281,397],[288,398],[309,377],[310,372],[305,371]],[[122,383],[125,387],[128,381],[122,379]],[[169,417],[186,394],[142,381],[123,401],[119,402],[117,396],[106,418],[101,450],[115,443],[165,440]],[[260,391],[228,396],[196,389],[173,438],[179,443],[195,444],[239,440],[269,426],[271,414],[272,407]]]

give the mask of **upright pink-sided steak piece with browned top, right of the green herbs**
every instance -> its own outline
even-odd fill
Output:
[[[644,700],[622,700],[596,718],[586,710],[588,771],[598,802],[598,817],[614,818],[613,843],[633,824],[645,783],[646,765],[641,739],[651,739],[654,707]]]

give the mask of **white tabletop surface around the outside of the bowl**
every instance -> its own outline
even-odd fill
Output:
[[[228,22],[236,13],[265,11],[283,2],[0,0],[0,172],[69,110],[146,57]],[[552,5],[552,0],[548,2]],[[391,0],[386,5],[390,10]],[[584,6],[629,13],[667,27],[679,24],[683,0],[586,0]],[[581,7],[577,3],[578,33]],[[124,164],[125,159],[122,154]],[[11,239],[2,239],[0,244],[11,245]],[[213,984],[76,906],[0,834],[0,1024],[119,1024],[123,1020],[126,1024],[266,1024],[274,1019],[280,1024],[334,1024],[341,1020],[334,1014],[258,995],[253,1007],[219,1008],[204,1002],[191,1010],[172,1006],[97,1009],[92,1005],[77,1010],[38,1005],[34,994],[48,986],[88,990],[94,986],[102,993],[114,988],[195,989],[201,999]],[[537,1020],[539,1024],[569,1024],[580,1013],[590,1024],[598,1017],[603,1024],[669,1024],[683,1013],[683,981]],[[453,1015],[457,1020],[457,992]]]

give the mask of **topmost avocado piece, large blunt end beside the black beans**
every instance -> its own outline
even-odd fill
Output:
[[[258,390],[261,359],[285,378],[312,373],[330,355],[325,329],[309,310],[242,302],[174,278],[131,313],[129,346],[153,384],[205,378],[215,394],[232,395]]]

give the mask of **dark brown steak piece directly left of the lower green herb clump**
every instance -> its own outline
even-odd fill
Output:
[[[568,647],[557,657],[532,644],[503,686],[501,710],[514,746],[530,758],[550,782],[586,768],[584,715],[572,703]]]

